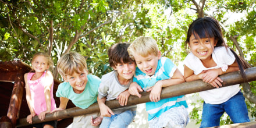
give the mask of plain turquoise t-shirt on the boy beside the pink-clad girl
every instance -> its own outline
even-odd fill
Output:
[[[101,79],[91,74],[88,74],[87,78],[88,81],[83,93],[74,93],[73,87],[70,86],[69,82],[63,82],[58,86],[56,97],[68,98],[73,102],[74,105],[78,106],[79,108],[88,108],[90,105],[97,102],[98,88],[99,83],[101,83]]]

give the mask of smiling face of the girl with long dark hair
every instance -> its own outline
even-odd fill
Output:
[[[195,38],[194,34],[191,34],[189,39],[189,47],[191,52],[201,59],[201,61],[207,61],[212,58],[212,52],[216,46],[214,37],[211,38]]]

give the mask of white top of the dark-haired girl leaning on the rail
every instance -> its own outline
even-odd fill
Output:
[[[184,65],[193,70],[194,74],[197,75],[200,74],[203,70],[218,69],[225,65],[232,65],[234,61],[236,61],[236,58],[230,49],[226,49],[225,47],[214,48],[214,52],[212,52],[212,58],[214,59],[214,62],[217,64],[217,66],[207,68],[202,64],[200,59],[191,52],[185,58]],[[236,95],[239,90],[239,84],[236,84],[234,86],[201,91],[199,94],[207,104],[222,104],[223,102],[226,102],[231,97]]]

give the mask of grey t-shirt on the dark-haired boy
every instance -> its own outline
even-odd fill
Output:
[[[106,101],[110,101],[118,98],[119,94],[127,90],[133,79],[127,85],[120,84],[118,81],[118,72],[112,71],[110,73],[104,74],[101,78],[101,83],[98,88],[98,97],[102,99],[106,97]],[[112,109],[115,114],[125,112],[126,110],[136,111],[137,106],[127,106],[118,109]]]

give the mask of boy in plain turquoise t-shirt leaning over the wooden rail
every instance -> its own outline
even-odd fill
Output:
[[[101,80],[97,76],[88,74],[84,56],[77,52],[67,53],[59,59],[57,69],[65,82],[59,84],[56,91],[56,97],[60,98],[61,103],[54,111],[66,109],[69,99],[82,109],[97,102]],[[98,127],[102,120],[98,115],[99,113],[92,113],[76,116],[72,127]]]

